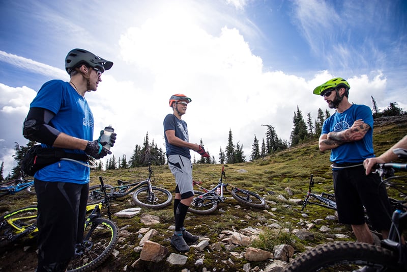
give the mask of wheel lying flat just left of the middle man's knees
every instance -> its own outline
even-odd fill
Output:
[[[153,193],[150,194],[148,186],[139,188],[133,194],[134,203],[138,206],[152,209],[161,209],[171,204],[172,195],[167,189],[154,186],[152,189]]]

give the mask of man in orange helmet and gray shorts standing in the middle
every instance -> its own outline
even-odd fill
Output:
[[[189,150],[192,149],[204,157],[209,157],[203,147],[188,142],[188,126],[184,120],[181,120],[181,117],[185,114],[189,102],[191,102],[191,98],[183,94],[172,95],[169,98],[172,114],[168,114],[164,119],[164,138],[168,166],[176,181],[174,200],[175,233],[172,235],[170,243],[180,252],[189,251],[187,242],[194,242],[198,239],[198,236],[192,235],[184,227],[185,216],[194,197]]]

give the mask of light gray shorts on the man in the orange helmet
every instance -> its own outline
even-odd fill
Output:
[[[181,155],[169,155],[168,166],[177,183],[176,193],[181,194],[181,199],[192,197],[194,195],[194,188],[192,184],[191,160]]]

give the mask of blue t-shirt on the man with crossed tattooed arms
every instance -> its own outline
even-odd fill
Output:
[[[335,113],[325,120],[322,126],[322,134],[342,131],[352,127],[353,123],[362,119],[370,126],[362,140],[344,143],[331,150],[330,160],[337,164],[346,162],[362,162],[366,158],[374,157],[373,152],[373,116],[370,108],[366,105],[353,104],[343,113]]]

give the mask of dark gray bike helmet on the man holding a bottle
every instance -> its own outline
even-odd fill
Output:
[[[65,58],[65,70],[68,74],[71,74],[71,71],[81,64],[89,65],[92,68],[98,68],[102,73],[113,66],[112,62],[106,61],[84,49],[76,48],[69,51]]]

